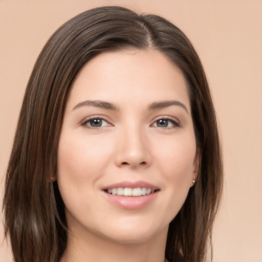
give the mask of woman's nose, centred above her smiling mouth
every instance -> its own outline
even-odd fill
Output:
[[[151,165],[150,142],[140,127],[119,130],[116,139],[116,165],[130,168]]]

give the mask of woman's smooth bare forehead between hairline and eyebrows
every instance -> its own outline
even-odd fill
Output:
[[[85,99],[117,104],[175,99],[190,108],[183,74],[157,50],[105,52],[85,63],[68,103],[72,107]]]

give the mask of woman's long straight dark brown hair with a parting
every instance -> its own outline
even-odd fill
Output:
[[[57,146],[70,86],[89,59],[125,48],[159,50],[186,79],[200,169],[182,209],[169,225],[166,258],[170,262],[208,259],[222,194],[223,165],[201,61],[184,33],[166,19],[111,6],[86,11],[62,25],[35,63],[18,119],[4,193],[5,232],[15,262],[61,259],[67,246],[67,222],[51,177],[56,176]]]

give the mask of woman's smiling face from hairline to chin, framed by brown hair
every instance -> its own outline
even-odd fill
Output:
[[[58,147],[73,234],[119,243],[166,236],[197,160],[185,80],[162,53],[108,52],[83,66]]]

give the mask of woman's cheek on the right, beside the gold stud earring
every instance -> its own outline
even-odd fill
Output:
[[[163,144],[162,144],[163,145]],[[192,182],[194,172],[194,137],[173,139],[158,151],[159,168],[165,179],[165,210],[169,221],[177,215],[183,206]]]

